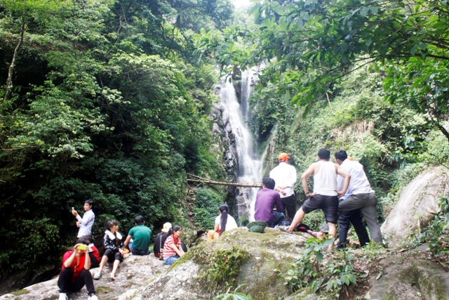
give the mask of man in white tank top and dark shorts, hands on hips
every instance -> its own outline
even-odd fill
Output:
[[[302,207],[296,212],[295,218],[288,228],[288,232],[293,232],[297,224],[301,223],[305,214],[316,209],[322,209],[326,222],[329,225],[329,234],[332,238],[337,233],[335,224],[338,221],[338,197],[346,193],[351,176],[338,164],[329,162],[330,150],[327,148],[318,151],[318,162],[310,165],[309,169],[301,176],[302,187],[307,199]],[[309,193],[307,178],[314,174],[314,193]],[[344,178],[342,190],[337,190],[337,174]]]

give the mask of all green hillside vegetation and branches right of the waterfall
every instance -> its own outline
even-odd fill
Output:
[[[228,76],[263,65],[248,120],[261,150],[288,152],[300,173],[319,148],[346,149],[380,220],[422,169],[448,165],[447,1],[255,1],[249,13],[195,38]],[[318,229],[321,214],[306,218]]]

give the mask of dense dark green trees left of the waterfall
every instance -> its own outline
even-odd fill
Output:
[[[0,280],[60,266],[71,207],[127,233],[187,222],[185,173],[209,151],[213,62],[192,34],[231,24],[213,1],[0,1]],[[25,278],[25,276],[24,276]]]

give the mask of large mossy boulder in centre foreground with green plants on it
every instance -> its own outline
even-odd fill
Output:
[[[292,268],[307,238],[272,228],[265,233],[251,233],[246,228],[227,231],[220,240],[194,247],[135,300],[213,299],[239,285],[243,285],[240,292],[255,300],[283,299],[288,289],[279,272]]]

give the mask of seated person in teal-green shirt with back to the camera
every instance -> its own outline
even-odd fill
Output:
[[[129,230],[124,244],[125,246],[129,246],[130,252],[134,255],[148,255],[151,253],[148,247],[152,230],[145,226],[143,216],[136,216],[134,224],[135,227]],[[131,239],[133,239],[132,242]]]

